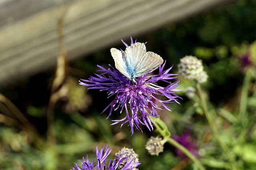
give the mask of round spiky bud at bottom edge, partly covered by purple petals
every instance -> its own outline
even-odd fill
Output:
[[[132,164],[139,162],[139,156],[134,152],[133,149],[129,148],[122,148],[119,150],[119,152],[116,153],[116,160],[115,162],[120,162],[121,163],[118,165],[118,169],[122,169],[124,166],[126,166],[127,163]],[[132,160],[132,161],[131,161]],[[132,170],[136,170],[137,168],[133,168]]]

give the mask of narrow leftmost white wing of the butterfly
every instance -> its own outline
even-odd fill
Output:
[[[123,75],[125,75],[126,77],[131,78],[130,75],[126,71],[126,65],[123,60],[122,52],[116,48],[111,48],[110,52],[115,61],[116,69],[118,71],[120,71]]]

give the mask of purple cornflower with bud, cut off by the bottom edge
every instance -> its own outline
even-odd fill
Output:
[[[87,155],[86,160],[83,157],[83,160],[80,161],[82,163],[81,166],[74,163],[75,166],[72,167],[71,170],[116,170],[117,168],[120,170],[138,170],[137,166],[140,165],[140,161],[134,161],[138,156],[137,154],[127,156],[125,155],[126,152],[124,152],[119,154],[119,156],[116,154],[114,159],[107,159],[110,152],[111,148],[108,148],[108,145],[106,145],[105,150],[101,148],[100,151],[98,147],[96,147],[96,161],[94,161],[95,158],[93,158],[92,162],[90,162]],[[120,168],[120,165],[122,165],[122,168]]]

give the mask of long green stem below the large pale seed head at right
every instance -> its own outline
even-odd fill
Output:
[[[236,170],[236,166],[234,164],[234,162],[235,162],[234,158],[230,154],[230,152],[228,151],[228,147],[226,146],[226,144],[221,140],[220,134],[218,133],[216,127],[214,126],[214,122],[213,122],[213,120],[212,120],[212,118],[210,116],[210,113],[208,111],[208,107],[207,107],[207,104],[206,104],[206,99],[204,98],[204,94],[202,92],[202,89],[201,89],[201,86],[200,86],[199,83],[197,83],[196,88],[198,90],[198,94],[199,94],[199,97],[201,99],[202,107],[203,107],[203,110],[204,110],[204,115],[205,115],[205,117],[206,117],[206,119],[208,121],[210,129],[212,130],[212,133],[213,133],[215,139],[217,140],[218,144],[222,148],[222,150],[227,154],[228,160],[230,162],[231,169],[232,170]]]

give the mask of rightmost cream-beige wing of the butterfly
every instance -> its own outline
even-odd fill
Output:
[[[146,54],[141,58],[141,62],[139,62],[137,65],[138,71],[136,73],[136,77],[142,76],[156,69],[163,62],[164,60],[162,57],[160,57],[160,55],[150,51],[146,52]]]

